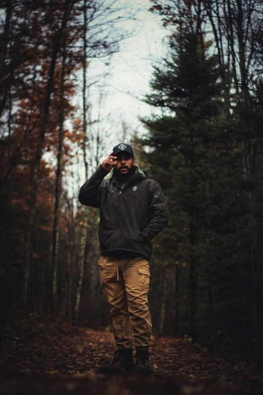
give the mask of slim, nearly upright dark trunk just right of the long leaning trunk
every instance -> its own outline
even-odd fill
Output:
[[[55,186],[55,207],[54,207],[54,227],[53,227],[53,281],[52,281],[52,316],[57,314],[57,251],[59,240],[59,219],[60,219],[60,199],[62,187],[62,158],[63,158],[63,139],[64,139],[64,77],[65,77],[65,57],[66,50],[63,50],[62,71],[61,71],[61,92],[59,108],[59,135],[58,152],[56,167],[56,186]]]

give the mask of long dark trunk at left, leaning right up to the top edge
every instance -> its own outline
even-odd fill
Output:
[[[54,41],[53,48],[52,48],[52,55],[51,55],[51,63],[49,69],[49,77],[47,81],[46,87],[46,97],[44,101],[44,109],[43,109],[43,118],[42,123],[40,126],[40,132],[38,137],[38,144],[36,149],[36,156],[35,156],[35,163],[33,168],[33,179],[32,179],[32,187],[30,191],[30,198],[29,198],[29,214],[27,220],[27,229],[25,235],[25,254],[24,254],[24,287],[23,287],[23,302],[26,305],[27,296],[28,296],[28,279],[29,279],[29,268],[30,268],[30,258],[31,258],[31,238],[32,232],[34,228],[34,221],[35,221],[35,213],[36,213],[36,194],[37,194],[37,180],[38,180],[38,173],[40,168],[40,161],[42,157],[42,149],[44,145],[45,139],[45,131],[48,123],[48,112],[50,106],[50,96],[52,92],[53,86],[53,79],[54,79],[54,70],[55,64],[57,59],[57,53],[59,50],[60,40],[62,33],[67,26],[68,17],[69,17],[69,0],[65,2],[65,11],[63,15],[63,19],[61,22],[61,27],[59,32],[56,36],[56,40]]]

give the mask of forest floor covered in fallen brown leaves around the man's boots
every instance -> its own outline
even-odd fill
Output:
[[[115,351],[111,332],[35,323],[5,334],[1,348],[1,394],[263,394],[262,366],[169,336],[153,336],[150,378],[98,374]]]

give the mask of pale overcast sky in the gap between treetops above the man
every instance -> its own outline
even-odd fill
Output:
[[[125,2],[125,0],[120,0]],[[167,53],[167,45],[163,42],[168,31],[162,27],[161,19],[147,11],[151,7],[149,0],[130,0],[129,4],[135,13],[136,20],[129,20],[122,24],[130,38],[120,42],[119,51],[113,54],[109,66],[104,62],[91,63],[88,76],[92,79],[97,74],[110,75],[90,89],[90,101],[96,117],[99,94],[104,95],[103,114],[109,112],[114,118],[108,128],[118,139],[121,130],[121,120],[129,125],[130,131],[143,131],[139,117],[147,116],[151,112],[150,106],[140,101],[149,93],[149,81],[153,73],[153,63],[160,60]],[[81,101],[81,97],[80,97]],[[107,121],[106,121],[107,122]]]

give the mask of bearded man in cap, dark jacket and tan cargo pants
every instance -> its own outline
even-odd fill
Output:
[[[112,178],[103,181],[112,168]],[[101,372],[114,374],[123,369],[148,376],[149,261],[151,240],[168,224],[165,196],[160,185],[135,165],[133,148],[120,143],[81,187],[79,200],[100,209],[98,265],[117,347],[113,362],[102,366]]]

